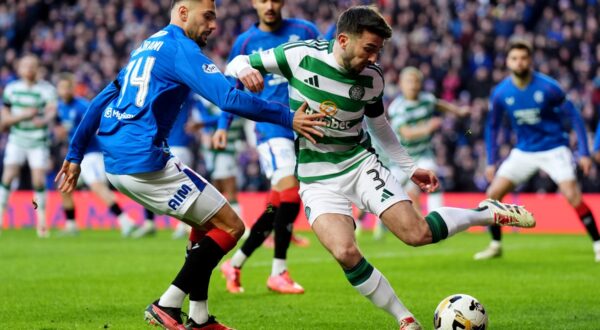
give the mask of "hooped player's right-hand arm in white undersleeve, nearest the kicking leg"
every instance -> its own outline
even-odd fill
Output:
[[[377,140],[389,158],[413,180],[421,189],[427,192],[435,191],[439,181],[431,171],[419,169],[414,160],[402,147],[394,130],[388,122],[383,108],[383,101],[379,99],[373,104],[365,105],[365,120],[369,133]]]

